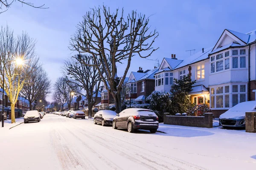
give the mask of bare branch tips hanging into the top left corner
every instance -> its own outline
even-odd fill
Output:
[[[44,7],[45,4],[40,5],[40,6],[35,6],[33,3],[26,2],[25,0],[0,0],[0,14],[7,11],[8,8],[10,8],[12,6],[12,4],[15,2],[19,2],[22,5],[31,6],[33,8],[43,8],[43,9],[47,8],[47,7]]]

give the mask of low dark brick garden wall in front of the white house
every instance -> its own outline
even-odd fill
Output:
[[[169,116],[169,113],[164,113],[163,123],[167,125],[212,128],[212,116],[212,113],[204,113],[204,116]]]

